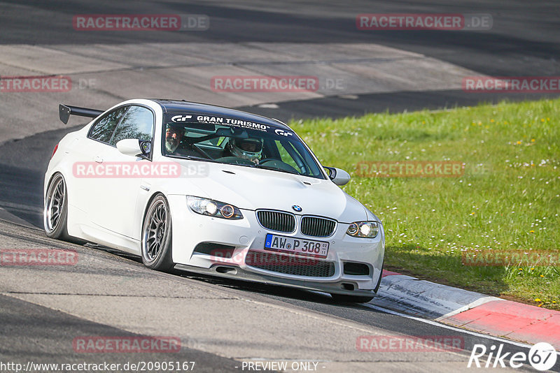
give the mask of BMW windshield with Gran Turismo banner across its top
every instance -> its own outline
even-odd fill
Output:
[[[320,166],[291,131],[241,119],[166,115],[162,154],[266,168],[324,179]]]

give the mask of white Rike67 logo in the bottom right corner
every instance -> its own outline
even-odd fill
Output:
[[[488,353],[488,356],[486,356],[486,353]],[[512,368],[519,368],[529,363],[535,370],[542,372],[554,367],[558,358],[554,346],[546,342],[535,344],[529,350],[528,355],[524,352],[516,352],[510,355],[510,352],[503,352],[503,344],[500,344],[497,348],[492,345],[489,349],[486,349],[484,344],[475,344],[470,353],[467,367],[472,367],[474,363],[477,368],[496,368],[498,366],[505,368],[507,364]],[[484,363],[484,360],[486,363]]]

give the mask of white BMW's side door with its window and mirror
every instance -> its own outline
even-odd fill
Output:
[[[92,221],[94,224],[126,237],[134,237],[138,229],[134,225],[134,214],[137,208],[138,194],[142,191],[143,179],[139,175],[125,173],[122,166],[137,166],[142,162],[151,162],[142,157],[127,156],[118,151],[116,144],[120,140],[134,138],[138,140],[153,140],[155,115],[153,111],[141,105],[130,105],[123,118],[116,126],[108,146],[99,149],[95,154],[97,162],[105,165],[105,170],[112,168],[112,175],[106,173],[98,177],[92,196]],[[114,165],[121,166],[120,173]]]

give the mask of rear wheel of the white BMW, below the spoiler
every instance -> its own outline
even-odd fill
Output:
[[[68,234],[68,189],[61,173],[55,173],[48,184],[43,208],[43,228],[47,237],[84,244],[86,241]]]

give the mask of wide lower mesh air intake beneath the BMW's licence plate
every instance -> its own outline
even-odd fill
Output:
[[[248,251],[245,263],[261,270],[286,275],[306,277],[332,277],[335,275],[335,263],[333,262],[263,251]]]

